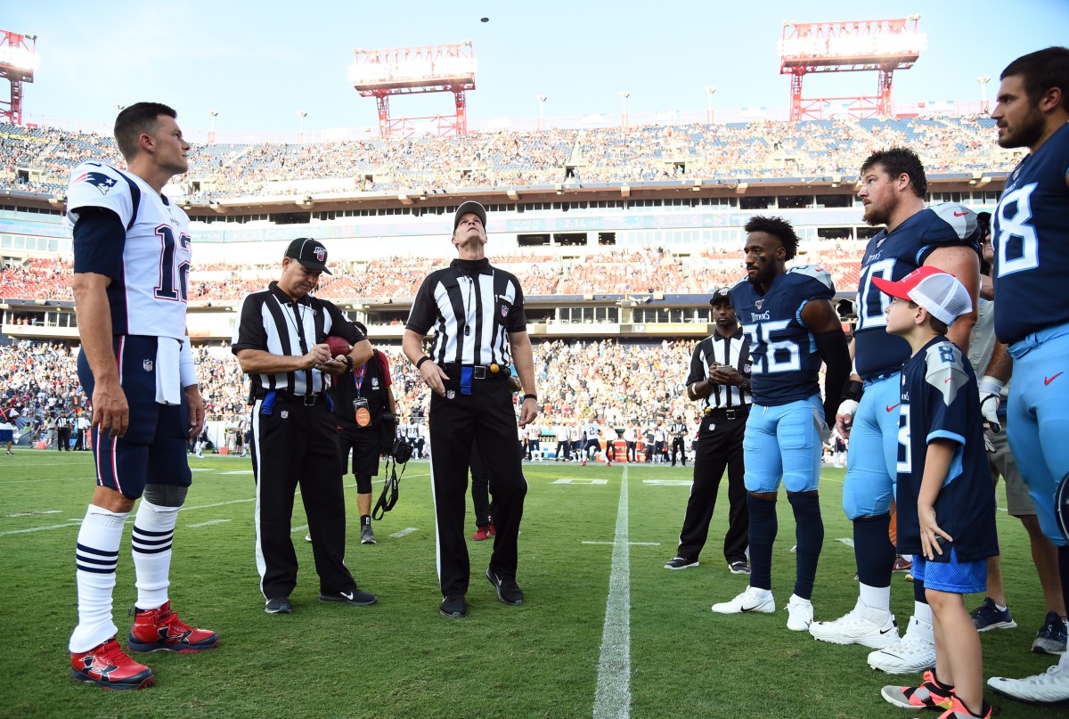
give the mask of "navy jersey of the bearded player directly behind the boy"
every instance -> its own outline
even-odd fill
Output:
[[[910,356],[910,345],[887,334],[884,310],[890,297],[872,281],[897,281],[928,259],[932,250],[967,245],[980,251],[976,213],[957,202],[926,208],[888,233],[886,228],[869,240],[862,260],[857,287],[857,326],[854,328],[854,366],[863,380],[897,372]]]

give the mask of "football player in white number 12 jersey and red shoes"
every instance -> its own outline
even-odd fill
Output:
[[[190,485],[186,442],[204,423],[186,336],[189,218],[162,195],[188,169],[175,112],[138,103],[115,119],[126,170],[97,162],[71,173],[78,378],[93,400],[96,488],[78,531],[78,626],[72,676],[105,689],[140,689],[152,670],[115,641],[111,595],[123,524],[134,502],[138,598],[130,652],[200,652],[219,642],[171,611],[171,540]],[[143,496],[142,496],[143,495]]]

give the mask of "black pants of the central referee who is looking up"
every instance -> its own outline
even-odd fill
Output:
[[[446,396],[431,395],[431,486],[437,525],[437,568],[441,595],[467,594],[471,566],[464,538],[467,471],[475,444],[494,495],[494,552],[490,569],[515,579],[516,539],[524,514],[527,481],[516,446],[516,416],[508,383],[471,380],[471,394],[455,379]]]

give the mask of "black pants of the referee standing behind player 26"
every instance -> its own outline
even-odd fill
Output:
[[[724,536],[724,559],[728,564],[746,561],[749,535],[749,509],[743,483],[742,440],[746,431],[745,411],[729,419],[723,413],[706,415],[698,431],[694,459],[694,484],[686,502],[683,530],[679,534],[677,556],[697,560],[709,536],[709,523],[716,508],[716,494],[724,470],[728,474],[728,531]]]

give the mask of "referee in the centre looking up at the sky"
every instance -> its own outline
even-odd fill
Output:
[[[494,551],[486,579],[497,598],[521,605],[516,584],[516,539],[527,483],[516,447],[516,416],[509,386],[509,363],[515,363],[527,394],[520,426],[538,416],[534,362],[527,337],[524,294],[515,276],[490,264],[486,210],[464,202],[453,217],[452,242],[458,259],[428,275],[405,325],[402,349],[431,388],[431,483],[437,525],[440,612],[467,614],[470,578],[464,539],[467,469],[472,442],[490,475],[494,494]],[[423,337],[434,327],[431,354]]]

